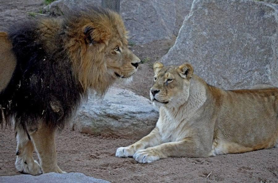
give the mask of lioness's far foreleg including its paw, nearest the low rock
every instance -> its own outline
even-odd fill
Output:
[[[159,134],[158,127],[155,127],[149,135],[143,137],[136,143],[133,143],[127,147],[120,147],[116,151],[117,157],[132,157],[133,154],[140,150],[148,147],[156,146],[162,143],[161,135]]]

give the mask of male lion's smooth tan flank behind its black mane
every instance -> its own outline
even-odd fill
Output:
[[[0,32],[0,92],[6,88],[15,70],[16,59],[6,32]],[[3,107],[3,106],[2,106]]]

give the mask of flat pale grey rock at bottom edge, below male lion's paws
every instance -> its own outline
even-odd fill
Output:
[[[1,183],[110,183],[94,177],[88,177],[83,173],[46,173],[39,176],[15,175],[0,177]]]

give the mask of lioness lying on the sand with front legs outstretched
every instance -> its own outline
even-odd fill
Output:
[[[222,90],[193,74],[191,64],[154,63],[150,98],[159,119],[149,135],[117,149],[140,163],[208,157],[278,147],[278,88]]]

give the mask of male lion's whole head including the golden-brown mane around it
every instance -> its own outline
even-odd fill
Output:
[[[115,80],[131,81],[140,59],[127,47],[127,31],[120,15],[91,10],[66,23],[70,25],[65,30],[70,38],[66,47],[84,89],[103,95]]]

